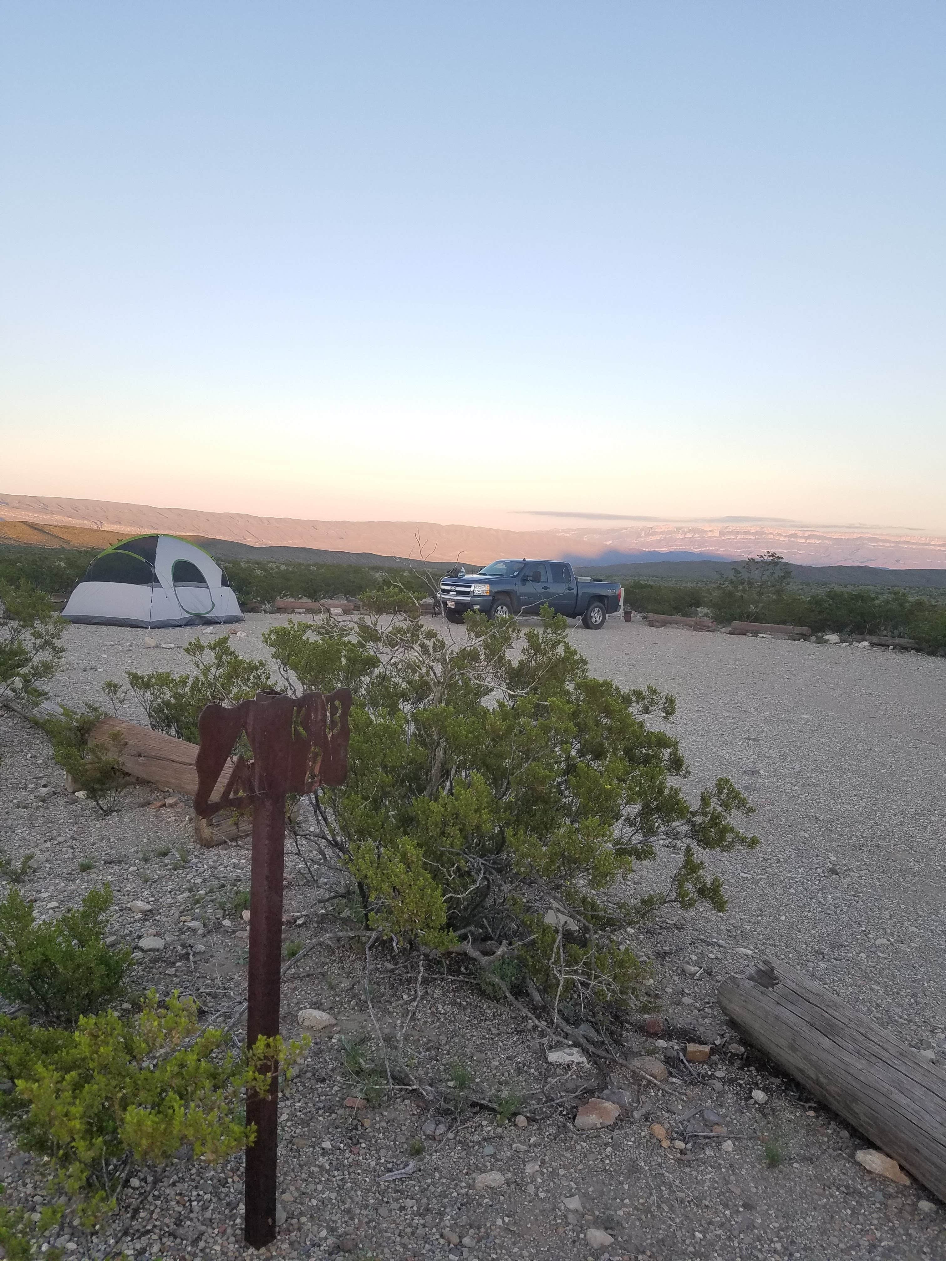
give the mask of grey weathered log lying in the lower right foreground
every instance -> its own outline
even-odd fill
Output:
[[[727,977],[719,1005],[747,1040],[946,1199],[946,1072],[783,963]]]

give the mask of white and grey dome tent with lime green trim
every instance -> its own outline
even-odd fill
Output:
[[[96,556],[62,615],[119,627],[243,620],[219,565],[173,535],[126,538]]]

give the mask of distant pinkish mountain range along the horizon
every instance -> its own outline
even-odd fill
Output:
[[[54,528],[106,530],[120,536],[164,531],[320,552],[438,562],[483,562],[499,556],[547,556],[581,565],[740,560],[777,551],[801,565],[946,569],[946,537],[874,527],[805,526],[745,520],[705,522],[594,522],[551,530],[489,530],[431,521],[299,521],[237,512],[158,508],[105,499],[0,494],[0,521]],[[343,559],[337,556],[337,559]]]

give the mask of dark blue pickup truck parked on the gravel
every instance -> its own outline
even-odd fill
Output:
[[[617,583],[575,578],[560,560],[494,560],[478,574],[460,569],[440,580],[440,605],[448,622],[463,622],[479,609],[493,620],[518,613],[539,613],[549,604],[566,618],[581,618],[589,630],[600,630],[609,613],[621,608]]]

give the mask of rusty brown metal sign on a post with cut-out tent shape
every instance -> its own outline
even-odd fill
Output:
[[[208,705],[198,721],[194,811],[203,818],[221,810],[252,807],[254,812],[247,1047],[279,1035],[286,794],[344,782],[351,706],[348,689],[304,696],[257,692],[240,705]],[[241,736],[252,759],[237,757],[219,798],[211,801]],[[246,1149],[243,1235],[255,1248],[276,1237],[279,1064],[270,1067],[269,1095],[246,1101],[246,1121],[256,1126],[256,1140]]]

